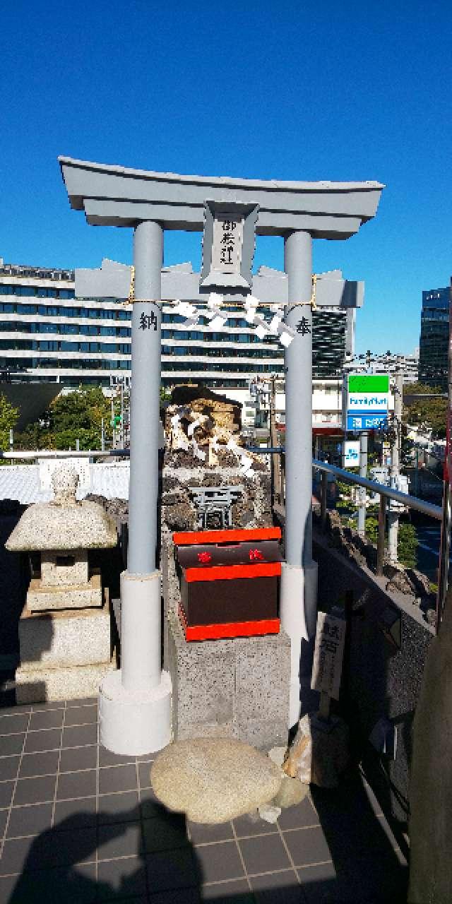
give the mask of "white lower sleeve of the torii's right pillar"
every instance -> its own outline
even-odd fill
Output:
[[[302,640],[315,635],[317,607],[317,563],[294,568],[283,562],[281,570],[281,627],[290,637],[290,698],[288,728],[300,718],[300,672]]]

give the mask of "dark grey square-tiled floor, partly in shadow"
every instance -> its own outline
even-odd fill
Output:
[[[185,824],[151,758],[98,744],[94,700],[0,711],[0,904],[398,904],[403,858],[359,775],[283,811]]]

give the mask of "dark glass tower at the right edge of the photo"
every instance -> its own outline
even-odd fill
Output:
[[[449,344],[449,293],[447,288],[422,292],[419,341],[419,382],[447,390]]]

